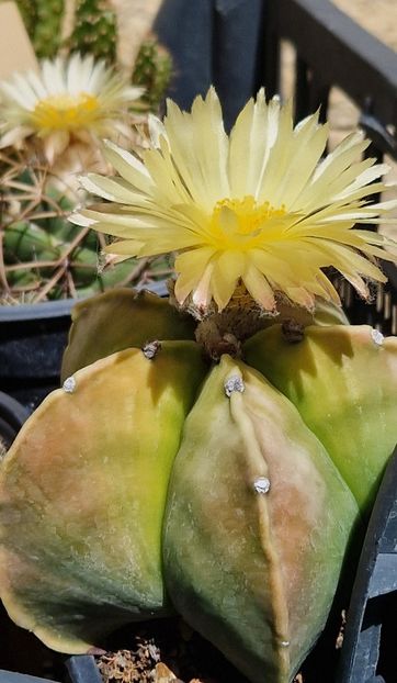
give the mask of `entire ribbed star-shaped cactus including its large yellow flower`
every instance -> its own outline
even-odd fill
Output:
[[[2,461],[1,597],[76,653],[177,611],[288,683],[397,441],[397,342],[349,325],[324,270],[385,280],[396,245],[354,225],[390,209],[367,202],[386,169],[358,133],[322,158],[317,115],[294,128],[262,92],[230,136],[214,90],[169,102],[150,141],[107,145],[118,176],[83,181],[107,201],[73,221],[122,257],[175,251],[175,281],[75,307],[63,389]]]

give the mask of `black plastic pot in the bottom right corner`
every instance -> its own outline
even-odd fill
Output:
[[[338,683],[397,680],[397,447],[387,466],[351,594]]]

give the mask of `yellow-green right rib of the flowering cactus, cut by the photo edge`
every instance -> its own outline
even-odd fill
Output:
[[[397,443],[397,338],[311,326],[292,345],[274,325],[246,343],[245,358],[296,405],[367,514]]]

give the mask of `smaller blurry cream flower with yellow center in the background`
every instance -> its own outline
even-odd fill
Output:
[[[123,113],[140,94],[91,55],[45,60],[39,74],[15,74],[0,82],[0,148],[21,147],[35,135],[53,164],[72,144],[81,154],[99,138],[129,137]]]

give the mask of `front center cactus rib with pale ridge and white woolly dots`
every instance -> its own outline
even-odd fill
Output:
[[[163,555],[178,612],[250,681],[291,681],[324,627],[356,518],[292,403],[224,356],[170,482]]]

